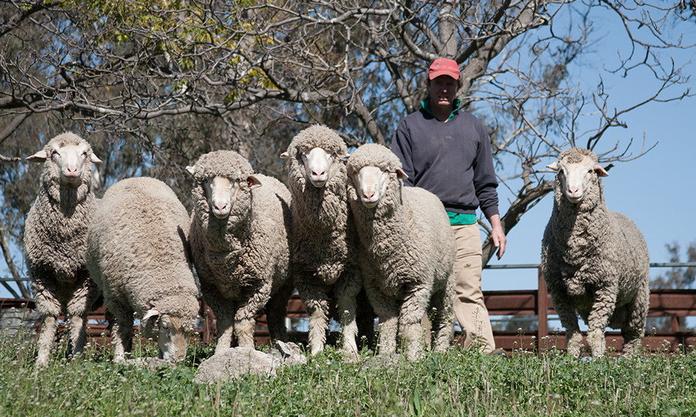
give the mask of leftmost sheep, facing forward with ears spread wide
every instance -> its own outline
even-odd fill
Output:
[[[89,279],[85,250],[88,224],[97,204],[92,164],[102,161],[74,133],[56,136],[26,159],[44,164],[38,195],[24,223],[24,256],[36,309],[42,316],[36,365],[46,366],[58,315],[67,316],[68,352],[77,355],[86,342],[87,313],[99,297]]]

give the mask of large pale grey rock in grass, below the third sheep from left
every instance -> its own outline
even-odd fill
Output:
[[[282,364],[282,359],[277,356],[248,347],[232,347],[203,361],[193,382],[226,382],[245,374],[275,376],[276,368]]]

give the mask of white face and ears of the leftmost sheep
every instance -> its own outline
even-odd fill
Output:
[[[56,142],[49,149],[27,158],[32,162],[45,162],[50,159],[52,170],[57,174],[61,185],[77,187],[83,182],[84,175],[91,174],[92,163],[101,163],[86,143],[64,144]]]

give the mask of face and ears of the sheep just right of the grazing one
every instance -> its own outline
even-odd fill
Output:
[[[261,186],[260,181],[253,175],[249,175],[244,180],[216,176],[207,178],[203,182],[210,211],[219,219],[228,218],[232,208],[235,208],[242,200],[248,199],[251,188],[259,186]]]

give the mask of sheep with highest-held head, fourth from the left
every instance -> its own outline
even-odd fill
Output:
[[[329,313],[337,309],[343,350],[356,354],[356,296],[361,278],[356,274],[356,238],[346,196],[345,142],[326,126],[314,125],[298,133],[286,152],[292,193],[290,263],[295,286],[307,307],[311,354],[324,349]],[[372,325],[372,323],[370,323]]]

